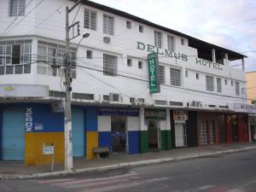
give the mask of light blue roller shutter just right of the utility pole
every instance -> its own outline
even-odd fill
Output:
[[[72,109],[73,156],[84,156],[84,109]]]

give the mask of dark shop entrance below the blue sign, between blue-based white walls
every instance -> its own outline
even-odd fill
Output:
[[[126,118],[113,116],[111,117],[111,139],[112,151],[126,153]]]

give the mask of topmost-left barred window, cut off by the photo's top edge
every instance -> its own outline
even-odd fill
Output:
[[[26,0],[9,0],[9,16],[25,15]]]

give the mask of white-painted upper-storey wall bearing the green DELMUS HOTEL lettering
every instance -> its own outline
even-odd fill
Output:
[[[28,3],[29,1],[26,1]],[[32,10],[38,5],[40,1],[32,1],[31,4],[27,5],[26,13]],[[64,45],[65,39],[65,7],[73,5],[73,2],[62,1],[62,0],[45,0],[40,3],[36,9],[32,11],[26,18],[18,17],[20,21],[19,25],[15,26],[15,30],[10,31],[6,36],[9,39],[12,36],[27,36],[33,41],[33,53],[37,53],[37,39],[44,40],[46,42],[58,43]],[[8,10],[8,1],[1,1],[0,7]],[[85,38],[81,41],[78,50],[78,64],[84,67],[91,67],[96,70],[102,70],[103,54],[116,55],[118,56],[118,73],[119,75],[129,76],[131,78],[148,80],[148,67],[147,67],[147,55],[148,51],[137,49],[137,41],[143,42],[143,44],[154,45],[154,28],[151,26],[143,25],[143,33],[138,31],[140,23],[131,20],[131,29],[126,29],[126,19],[117,15],[114,17],[114,35],[109,36],[103,34],[102,31],[102,17],[103,13],[101,10],[96,10],[96,31],[84,29],[84,4],[79,10],[77,19],[80,21],[80,29],[82,32],[89,32],[90,37]],[[58,9],[58,11],[57,11]],[[78,8],[74,9],[70,15],[70,22],[73,21]],[[7,16],[8,12],[3,11],[3,19],[6,22],[1,22],[0,33],[9,25],[15,18]],[[108,13],[106,13],[108,14]],[[112,15],[112,14],[108,14]],[[27,26],[29,25],[29,26]],[[160,31],[160,30],[158,30]],[[163,32],[163,31],[161,31]],[[163,32],[164,49],[167,48],[166,36],[169,33]],[[171,34],[172,35],[172,34]],[[111,38],[110,44],[103,43],[103,37],[108,36]],[[38,38],[40,37],[40,38]],[[229,62],[223,67],[223,70],[218,70],[208,66],[201,66],[196,63],[195,55],[197,50],[188,46],[188,39],[185,39],[185,45],[181,45],[181,38],[174,35],[176,42],[176,52],[183,53],[186,55],[192,55],[188,57],[188,61],[176,60],[175,58],[160,56],[160,65],[165,66],[166,70],[166,86],[161,85],[161,92],[150,95],[148,92],[148,82],[137,81],[134,79],[127,79],[125,77],[111,77],[105,76],[101,72],[96,72],[90,69],[84,69],[81,67],[77,68],[77,79],[73,79],[73,91],[80,93],[94,93],[96,100],[100,100],[102,95],[108,93],[120,93],[126,104],[129,103],[130,97],[141,97],[145,98],[148,104],[153,104],[154,100],[166,100],[168,102],[183,102],[186,106],[186,102],[201,101],[203,104],[208,105],[226,105],[227,103],[234,102],[246,102],[245,94],[236,96],[235,94],[235,81],[240,82],[240,87],[245,87],[245,73],[232,69],[229,66]],[[50,40],[51,39],[51,40]],[[73,47],[76,46],[80,38],[75,38],[71,41]],[[93,50],[93,58],[86,59],[86,49]],[[164,49],[161,49],[162,51]],[[132,67],[127,67],[127,57],[132,59]],[[137,62],[143,61],[143,69],[137,67]],[[177,67],[182,71],[182,86],[174,87],[170,84],[170,67]],[[186,78],[184,73],[185,70],[189,71],[189,77]],[[36,68],[33,67],[32,77],[30,75],[5,75],[1,77],[1,84],[46,84],[49,85],[49,90],[61,90],[61,79],[59,77],[50,77],[46,75],[38,75]],[[200,73],[200,79],[195,79],[195,73]],[[206,75],[214,77],[215,91],[206,90]],[[222,79],[222,92],[218,93],[216,89],[216,78]],[[228,79],[229,83],[224,84],[224,79]],[[234,86],[230,85],[230,81],[234,81]]]

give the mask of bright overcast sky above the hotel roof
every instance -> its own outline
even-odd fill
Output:
[[[256,0],[91,0],[247,55],[256,70]],[[246,52],[254,51],[254,52]]]

